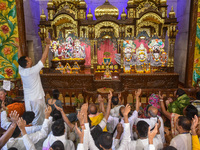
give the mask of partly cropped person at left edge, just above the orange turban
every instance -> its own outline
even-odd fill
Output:
[[[2,103],[4,104],[4,106],[7,106],[13,103],[13,99],[6,95],[7,95],[6,90],[4,90],[3,88],[0,88],[0,108],[2,108]]]

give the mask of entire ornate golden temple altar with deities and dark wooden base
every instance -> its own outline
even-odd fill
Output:
[[[167,16],[166,2],[129,0],[118,19],[118,8],[106,0],[95,20],[84,0],[49,0],[48,18],[43,12],[39,24],[43,47],[46,37],[52,39],[53,58],[41,73],[44,89],[178,88],[177,19],[173,7]]]

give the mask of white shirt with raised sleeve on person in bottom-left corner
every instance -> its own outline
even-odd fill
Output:
[[[35,133],[29,134],[29,139],[32,141],[33,144],[36,144],[39,140],[45,138],[48,134],[48,123],[49,119],[45,119],[42,125],[42,129],[40,131],[37,131]],[[11,147],[16,147],[19,150],[26,150],[26,146],[23,142],[23,137],[18,138],[10,138],[9,141],[4,145],[2,150],[7,150]],[[36,147],[37,149],[37,147]]]

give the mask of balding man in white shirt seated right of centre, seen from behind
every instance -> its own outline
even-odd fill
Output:
[[[147,122],[149,124],[150,128],[152,129],[159,120],[160,123],[161,123],[161,126],[159,128],[159,132],[160,132],[160,135],[161,135],[161,138],[162,138],[162,142],[165,143],[164,122],[163,122],[162,117],[160,117],[158,115],[158,109],[154,106],[150,106],[150,107],[147,108],[147,112],[148,112],[149,118],[138,118],[136,120],[136,122],[143,120],[143,121]]]

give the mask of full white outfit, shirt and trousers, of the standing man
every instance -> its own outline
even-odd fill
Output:
[[[42,124],[44,120],[44,90],[40,79],[40,70],[44,67],[41,60],[31,68],[19,66],[19,74],[23,82],[26,111],[33,111],[35,119],[33,125]]]

